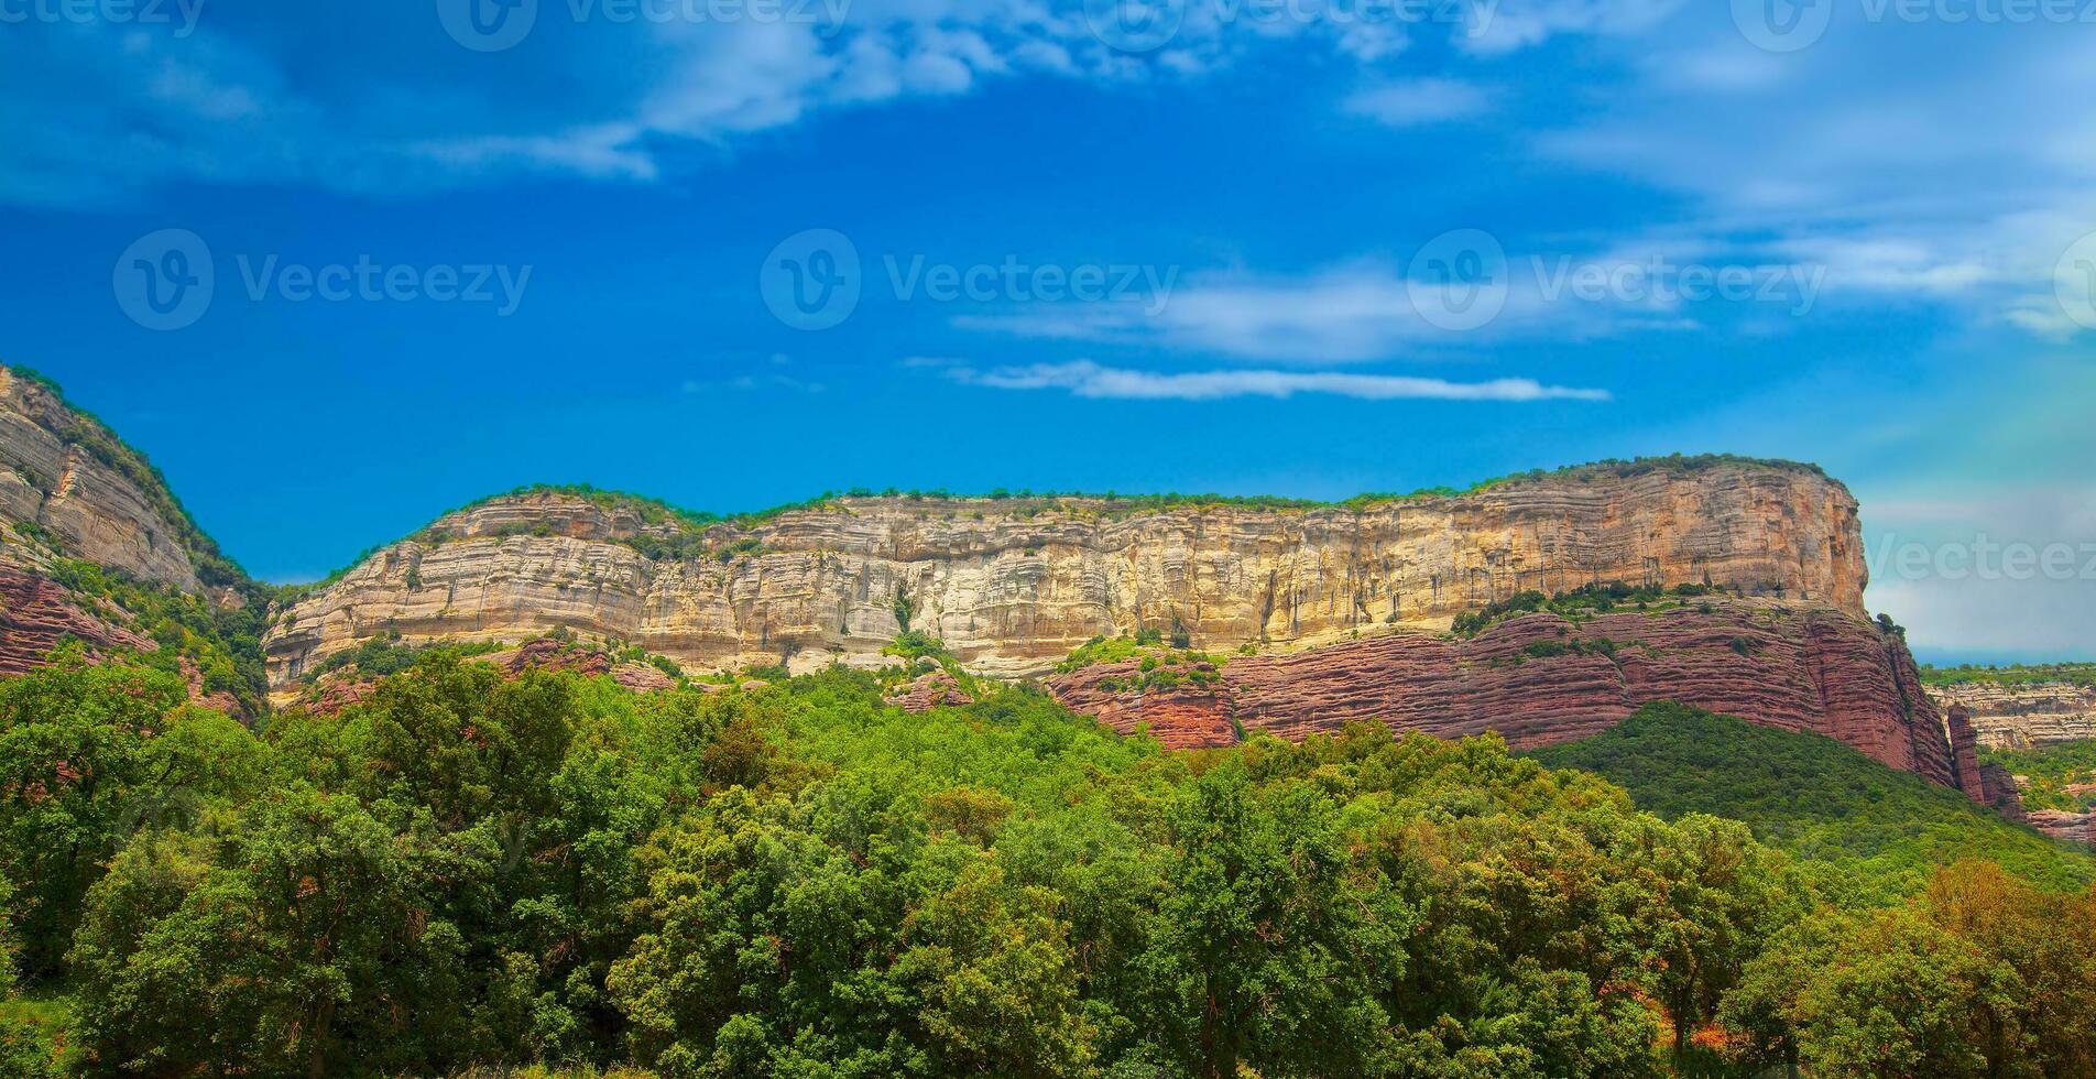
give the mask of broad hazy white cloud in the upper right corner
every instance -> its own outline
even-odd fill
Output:
[[[1534,149],[1687,197],[1708,233],[1769,237],[1826,266],[1830,295],[2079,329],[2052,279],[2096,224],[2086,27],[1863,23],[1836,4],[1817,44],[1769,54],[1712,8],[1624,48],[1637,80]]]

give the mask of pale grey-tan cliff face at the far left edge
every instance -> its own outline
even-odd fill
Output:
[[[0,520],[42,530],[67,557],[197,591],[195,532],[151,465],[46,386],[0,367]],[[29,568],[21,528],[0,559]]]

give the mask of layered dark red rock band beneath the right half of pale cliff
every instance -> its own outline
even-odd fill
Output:
[[[1708,608],[1708,612],[1704,610]],[[1352,721],[1440,737],[1499,731],[1515,748],[1599,733],[1654,700],[1790,731],[1817,731],[1987,802],[1970,746],[1958,754],[1897,633],[1847,612],[1754,599],[1568,622],[1524,614],[1471,639],[1390,633],[1285,656],[1241,656],[1205,691],[1119,689],[1136,662],[1046,679],[1079,712],[1172,746],[1232,731],[1304,737]]]

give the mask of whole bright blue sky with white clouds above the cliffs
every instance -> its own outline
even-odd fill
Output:
[[[0,356],[258,576],[541,480],[1731,450],[1924,656],[2096,654],[2086,4],[467,2],[0,0]]]

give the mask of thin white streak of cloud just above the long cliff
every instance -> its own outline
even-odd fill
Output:
[[[1608,390],[1543,386],[1534,379],[1448,381],[1350,371],[1130,371],[1092,360],[979,371],[914,356],[905,367],[943,367],[945,377],[991,390],[1067,390],[1079,398],[1224,400],[1329,394],[1356,400],[1610,400]]]

